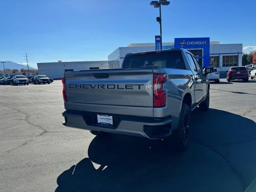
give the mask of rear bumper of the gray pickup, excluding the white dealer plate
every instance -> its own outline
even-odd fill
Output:
[[[113,116],[113,125],[98,124],[97,114],[66,110],[62,113],[65,121],[63,125],[85,130],[109,132],[149,139],[166,138],[172,134],[172,118],[150,118],[142,116],[107,114]]]

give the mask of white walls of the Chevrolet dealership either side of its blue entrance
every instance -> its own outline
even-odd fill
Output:
[[[174,43],[163,43],[163,49],[174,48]],[[153,51],[155,50],[154,43],[137,43],[130,44],[127,47],[119,47],[108,56],[109,68],[120,68],[124,60],[124,56],[128,53]],[[222,66],[223,56],[237,55],[238,66],[242,66],[242,44],[220,44],[218,41],[210,42],[210,56],[219,56],[218,71],[226,71],[230,67]]]

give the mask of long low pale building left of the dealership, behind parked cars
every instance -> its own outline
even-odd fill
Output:
[[[65,70],[90,70],[98,67],[108,69],[108,61],[76,61],[76,62],[49,62],[37,63],[38,74],[46,75],[50,78],[58,79],[63,76]]]

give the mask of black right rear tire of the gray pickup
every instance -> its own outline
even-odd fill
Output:
[[[174,148],[176,151],[182,152],[188,146],[188,132],[190,122],[190,109],[187,104],[183,103],[180,111],[180,122],[178,128],[174,130],[171,136],[166,138],[164,142],[168,147]]]

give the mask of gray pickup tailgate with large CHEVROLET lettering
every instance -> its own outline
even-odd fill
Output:
[[[67,110],[153,116],[152,68],[65,72]]]

